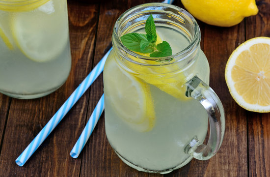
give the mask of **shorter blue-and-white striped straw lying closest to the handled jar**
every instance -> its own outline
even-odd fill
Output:
[[[101,96],[97,106],[95,107],[92,115],[90,116],[87,124],[85,125],[80,138],[76,142],[75,146],[72,148],[70,155],[73,158],[77,158],[81,153],[82,148],[88,141],[91,133],[93,132],[102,112],[104,111],[104,94]]]

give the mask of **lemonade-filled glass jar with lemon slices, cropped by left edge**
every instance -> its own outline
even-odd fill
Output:
[[[0,0],[0,92],[41,97],[71,68],[66,0]]]

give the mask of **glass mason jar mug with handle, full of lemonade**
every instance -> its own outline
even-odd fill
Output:
[[[121,43],[124,34],[143,33],[150,14],[157,43],[167,41],[172,56],[149,57]],[[105,126],[109,144],[129,166],[165,174],[192,158],[207,160],[221,146],[224,110],[208,86],[200,39],[195,19],[174,5],[142,4],[116,21],[104,68]]]

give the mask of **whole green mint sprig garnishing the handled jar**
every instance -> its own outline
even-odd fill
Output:
[[[121,41],[128,48],[134,52],[141,52],[150,54],[150,57],[168,57],[172,55],[172,50],[168,42],[156,45],[157,32],[152,14],[147,18],[145,23],[146,34],[128,33],[121,36]]]

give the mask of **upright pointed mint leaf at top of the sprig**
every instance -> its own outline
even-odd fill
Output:
[[[146,37],[149,42],[157,42],[157,32],[152,14],[149,15],[145,22]]]

